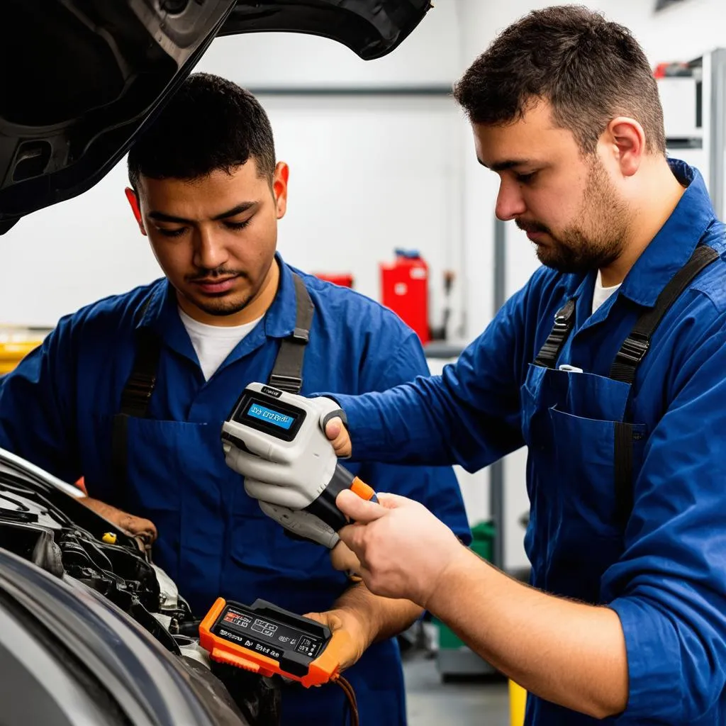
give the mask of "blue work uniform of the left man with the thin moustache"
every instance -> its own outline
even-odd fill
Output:
[[[261,597],[296,613],[325,611],[348,587],[328,550],[285,536],[224,462],[222,423],[248,383],[267,380],[281,341],[295,329],[293,272],[277,262],[272,306],[209,380],[179,318],[175,291],[159,280],[61,319],[0,388],[0,445],[65,481],[83,475],[91,497],[154,522],[155,562],[198,617],[220,595],[242,603]],[[385,390],[426,372],[415,333],[391,311],[295,272],[314,304],[303,394]],[[147,416],[126,422],[126,485],[118,486],[113,423],[142,328],[160,340],[158,376]],[[468,541],[451,468],[364,463],[351,471],[382,491],[419,499]],[[406,722],[395,639],[372,645],[346,677],[363,723]],[[335,685],[290,686],[282,722],[340,726],[343,698]]]

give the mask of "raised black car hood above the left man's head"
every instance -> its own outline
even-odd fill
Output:
[[[0,234],[102,179],[217,35],[333,38],[391,52],[429,0],[4,0]]]

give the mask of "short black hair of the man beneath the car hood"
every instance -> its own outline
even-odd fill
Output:
[[[249,91],[211,73],[194,73],[129,150],[129,181],[197,179],[254,158],[272,182],[275,155],[269,118]]]

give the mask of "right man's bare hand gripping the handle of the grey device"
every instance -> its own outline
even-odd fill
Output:
[[[375,595],[399,597],[425,608],[448,568],[466,548],[419,502],[378,494],[367,502],[349,490],[336,504],[355,521],[338,534],[360,561],[359,574]]]

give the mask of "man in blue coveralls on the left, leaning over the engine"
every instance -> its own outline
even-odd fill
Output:
[[[325,547],[286,537],[225,464],[220,432],[253,381],[363,393],[412,380],[428,370],[418,338],[370,298],[275,253],[288,168],[276,163],[264,110],[234,83],[188,78],[131,149],[129,176],[166,278],[60,321],[4,379],[0,445],[65,481],[83,474],[99,511],[131,531],[157,530],[155,562],[197,616],[218,595],[263,597],[348,630],[362,721],[404,724],[392,636],[421,608],[351,586]],[[450,467],[360,470],[468,541]],[[282,712],[283,723],[339,726],[343,693],[291,687]]]

